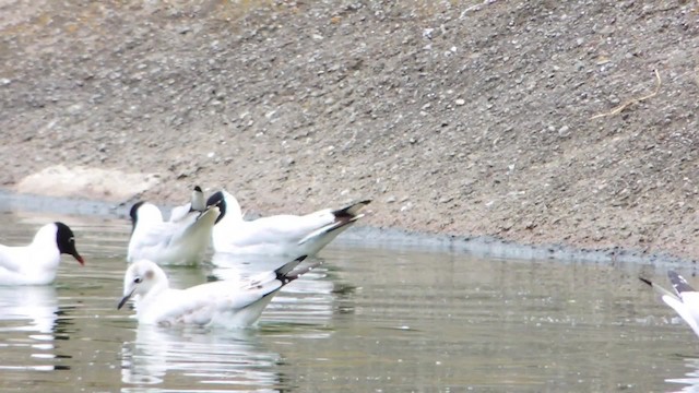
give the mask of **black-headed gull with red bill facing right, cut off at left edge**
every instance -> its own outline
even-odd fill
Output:
[[[28,246],[0,245],[0,285],[51,284],[62,253],[85,264],[75,249],[75,235],[59,222],[44,225]]]

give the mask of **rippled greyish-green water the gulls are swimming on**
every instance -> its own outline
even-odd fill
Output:
[[[138,327],[116,310],[126,219],[0,216],[0,239],[14,245],[64,221],[87,262],[63,257],[52,286],[0,288],[1,391],[699,391],[699,340],[637,278],[665,283],[666,266],[487,260],[341,237],[258,329]],[[167,272],[190,286],[266,269],[216,263]]]

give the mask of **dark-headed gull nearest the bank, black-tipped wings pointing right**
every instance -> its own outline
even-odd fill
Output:
[[[263,255],[315,255],[364,214],[359,211],[370,200],[340,210],[324,209],[307,215],[275,215],[244,221],[238,201],[226,190],[206,201],[218,205],[221,215],[213,230],[216,252]]]

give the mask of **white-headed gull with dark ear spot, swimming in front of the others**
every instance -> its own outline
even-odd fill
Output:
[[[220,281],[187,289],[173,289],[165,272],[154,262],[132,263],[123,277],[123,298],[117,309],[132,297],[139,323],[246,327],[252,325],[274,295],[317,264],[295,267],[300,257],[281,267],[249,279]]]

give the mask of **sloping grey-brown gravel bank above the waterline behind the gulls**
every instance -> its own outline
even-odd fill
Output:
[[[0,184],[694,260],[696,1],[0,0]]]

